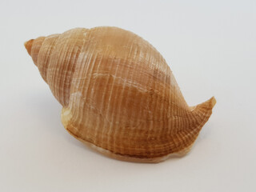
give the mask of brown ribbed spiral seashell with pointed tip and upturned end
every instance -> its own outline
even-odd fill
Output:
[[[66,130],[111,158],[186,154],[216,102],[188,106],[162,55],[117,27],[76,28],[25,46],[63,106]]]

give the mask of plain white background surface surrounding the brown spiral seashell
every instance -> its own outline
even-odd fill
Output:
[[[83,146],[23,43],[119,26],[155,46],[190,106],[217,104],[190,154],[120,162]],[[256,191],[256,1],[0,1],[0,191]]]

